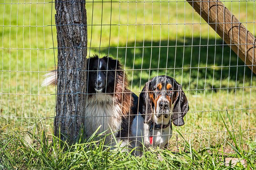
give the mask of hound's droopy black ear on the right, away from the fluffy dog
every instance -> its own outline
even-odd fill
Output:
[[[174,101],[174,107],[172,109],[172,122],[176,126],[182,126],[185,124],[183,117],[189,111],[189,104],[181,85],[176,81],[174,83],[178,86],[178,96]]]

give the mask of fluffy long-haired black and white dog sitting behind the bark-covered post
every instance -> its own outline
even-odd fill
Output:
[[[90,137],[99,126],[98,133],[106,131],[128,142],[129,127],[137,115],[137,96],[127,89],[128,81],[118,60],[98,55],[87,60],[87,106],[85,133]],[[56,71],[50,72],[42,85],[55,85]],[[109,144],[110,138],[106,138]]]

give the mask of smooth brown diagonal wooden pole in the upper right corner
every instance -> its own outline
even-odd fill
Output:
[[[228,8],[218,0],[187,0],[187,2],[256,74],[256,38]]]

